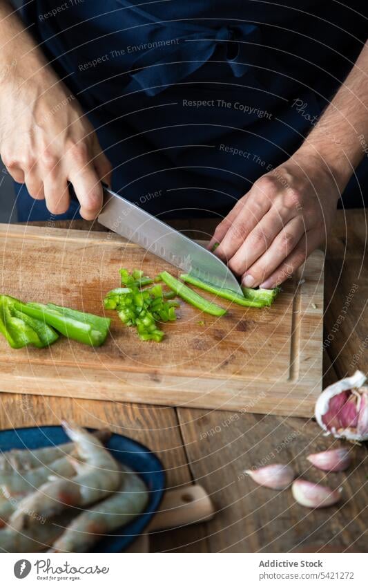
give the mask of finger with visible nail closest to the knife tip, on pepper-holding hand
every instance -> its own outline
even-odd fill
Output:
[[[242,277],[242,283],[247,288],[255,288],[269,277],[278,268],[280,263],[287,259],[300,240],[305,240],[306,232],[300,216],[292,218],[275,237],[271,246],[262,257],[257,259]]]

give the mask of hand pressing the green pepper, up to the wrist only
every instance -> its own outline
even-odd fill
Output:
[[[300,149],[258,179],[217,226],[209,248],[244,286],[273,288],[305,261],[329,232],[338,187],[320,158]]]

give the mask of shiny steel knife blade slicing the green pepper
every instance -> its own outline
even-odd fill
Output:
[[[184,272],[243,297],[240,285],[231,270],[213,253],[148,214],[144,209],[115,194],[106,185],[103,187],[104,206],[98,216],[99,223]]]

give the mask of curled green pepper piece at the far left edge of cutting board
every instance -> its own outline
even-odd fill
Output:
[[[28,344],[43,348],[50,346],[59,335],[43,320],[31,318],[17,310],[19,300],[0,296],[0,332],[12,348],[22,348]]]

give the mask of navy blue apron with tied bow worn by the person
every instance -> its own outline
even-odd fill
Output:
[[[93,123],[115,191],[163,218],[222,216],[296,151],[362,48],[364,1],[293,4],[33,0],[23,19]],[[17,202],[21,221],[50,218],[24,186]]]

